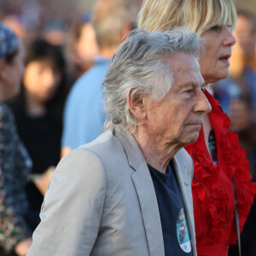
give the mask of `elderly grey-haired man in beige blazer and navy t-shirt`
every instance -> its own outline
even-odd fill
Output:
[[[211,109],[195,33],[135,31],[104,80],[106,127],[57,166],[27,255],[196,255],[183,149]]]

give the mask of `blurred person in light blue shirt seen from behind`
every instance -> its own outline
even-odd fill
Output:
[[[133,0],[98,0],[92,15],[100,55],[95,65],[73,84],[64,110],[61,155],[90,143],[103,131],[105,114],[101,83],[108,61],[137,17]]]

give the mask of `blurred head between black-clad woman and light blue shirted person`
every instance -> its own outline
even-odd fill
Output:
[[[99,55],[96,34],[90,23],[90,14],[81,15],[74,20],[67,43],[67,60],[69,73],[73,79],[78,79],[94,64],[94,59]]]

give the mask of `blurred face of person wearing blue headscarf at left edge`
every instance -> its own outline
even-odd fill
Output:
[[[1,67],[0,100],[8,101],[20,92],[20,81],[24,71],[24,49],[20,45],[19,52],[10,63],[3,60]]]

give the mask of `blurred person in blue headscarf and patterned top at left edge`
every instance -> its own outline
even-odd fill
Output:
[[[32,161],[4,103],[20,91],[24,49],[15,33],[0,23],[0,255],[26,255],[32,230],[26,223],[26,182]]]

